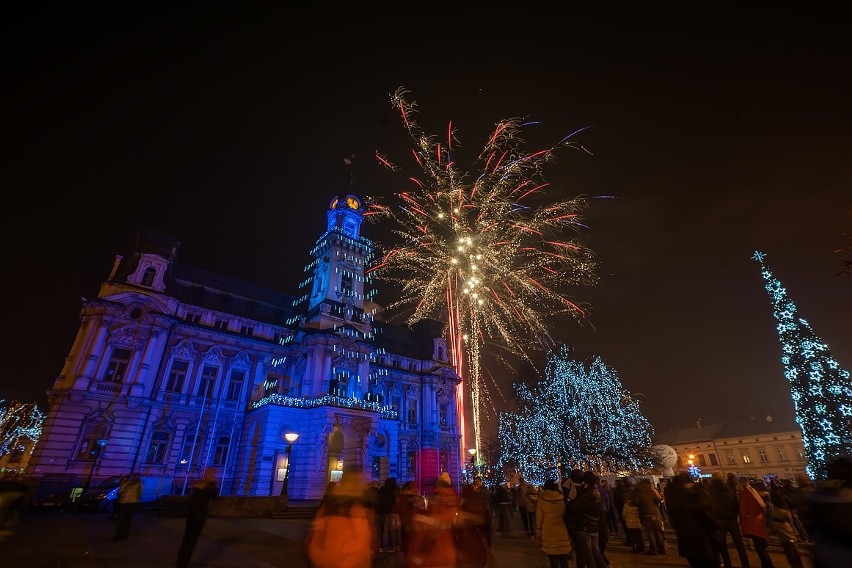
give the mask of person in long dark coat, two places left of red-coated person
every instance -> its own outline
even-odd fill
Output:
[[[677,534],[678,554],[692,568],[718,568],[719,523],[713,516],[709,493],[686,473],[679,473],[666,486],[665,499],[672,527]]]

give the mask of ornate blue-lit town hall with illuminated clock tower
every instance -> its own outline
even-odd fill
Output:
[[[459,480],[443,325],[382,320],[362,221],[357,196],[331,201],[298,298],[183,265],[180,242],[141,232],[83,300],[27,473],[139,472],[180,494],[214,468],[224,495],[293,499],[347,468],[422,490]]]

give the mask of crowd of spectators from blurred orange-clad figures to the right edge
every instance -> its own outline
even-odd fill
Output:
[[[730,541],[742,568],[751,565],[749,548],[761,568],[774,568],[770,542],[781,546],[791,568],[804,568],[798,544],[812,542],[814,528],[848,552],[848,540],[841,539],[852,534],[852,501],[841,493],[852,491],[852,476],[841,477],[846,481],[839,489],[826,485],[830,490],[819,490],[805,475],[794,484],[680,473],[664,485],[618,478],[610,486],[592,471],[575,469],[541,487],[520,478],[489,489],[476,477],[457,493],[443,472],[421,495],[412,481],[399,487],[389,478],[380,486],[347,471],[329,484],[309,533],[308,556],[316,568],[367,568],[379,552],[401,552],[404,568],[482,568],[493,558],[494,530],[508,534],[509,518],[517,514],[551,568],[608,567],[612,535],[620,535],[633,553],[669,554],[667,527],[676,534],[677,553],[692,567],[731,568]],[[815,514],[814,507],[824,511]],[[834,568],[844,565],[835,558],[849,560],[831,543],[826,551],[815,555],[814,566]]]

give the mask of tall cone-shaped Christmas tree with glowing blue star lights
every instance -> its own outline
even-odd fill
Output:
[[[812,479],[825,479],[826,466],[852,452],[852,383],[849,371],[831,356],[826,345],[798,314],[787,290],[766,267],[766,255],[756,251],[772,313],[778,320],[781,362],[802,428],[802,444]]]

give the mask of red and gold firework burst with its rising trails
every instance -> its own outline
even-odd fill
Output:
[[[417,105],[407,94],[400,88],[391,102],[414,142],[418,175],[409,178],[410,189],[395,194],[392,206],[367,198],[365,218],[391,221],[398,238],[380,247],[381,259],[371,271],[400,288],[389,309],[400,308],[409,322],[447,322],[452,362],[471,398],[478,450],[481,412],[492,402],[480,368],[483,348],[497,347],[503,360],[508,354],[529,359],[534,350],[554,347],[553,316],[586,318],[568,290],[597,283],[593,253],[574,240],[587,200],[552,199],[543,177],[558,149],[584,148],[573,141],[575,132],[552,147],[527,152],[522,134],[532,123],[506,119],[463,172],[453,161],[458,141],[452,123],[445,139],[423,133]],[[387,157],[376,158],[401,171]],[[457,396],[461,409],[461,389]]]

